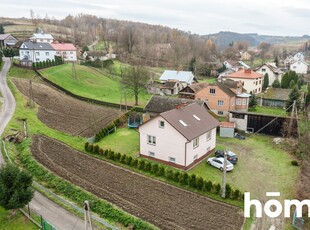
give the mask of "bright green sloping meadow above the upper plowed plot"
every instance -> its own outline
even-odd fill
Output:
[[[64,64],[41,70],[43,76],[74,94],[112,103],[120,103],[121,84],[119,78],[109,78],[100,71],[76,65],[76,78],[72,76],[72,65]],[[141,94],[139,106],[145,105],[151,95]],[[124,99],[123,102],[124,103]],[[134,105],[134,97],[127,96],[128,105]]]

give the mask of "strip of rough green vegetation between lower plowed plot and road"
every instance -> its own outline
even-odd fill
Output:
[[[69,198],[77,204],[83,204],[85,200],[90,201],[91,209],[100,217],[123,224],[125,227],[131,229],[156,229],[154,226],[147,222],[138,219],[107,201],[96,197],[95,195],[80,189],[79,187],[71,184],[70,182],[55,176],[53,173],[46,170],[43,166],[39,165],[31,155],[28,153],[30,139],[24,141],[18,146],[20,151],[20,162],[24,167],[32,173],[37,181],[43,183],[47,188],[55,193],[60,193]],[[97,149],[97,148],[92,148]]]

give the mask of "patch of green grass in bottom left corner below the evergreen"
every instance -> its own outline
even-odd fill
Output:
[[[38,229],[21,212],[17,211],[16,216],[10,217],[10,211],[0,207],[0,229],[2,230],[35,230]]]

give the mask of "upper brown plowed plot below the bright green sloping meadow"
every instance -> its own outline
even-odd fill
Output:
[[[14,79],[27,97],[29,82]],[[98,106],[69,97],[51,87],[32,83],[34,101],[40,106],[38,118],[47,126],[77,136],[91,137],[119,114],[118,109]]]

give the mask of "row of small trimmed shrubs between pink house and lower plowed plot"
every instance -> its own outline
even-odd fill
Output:
[[[146,161],[143,158],[133,158],[126,154],[116,153],[112,150],[103,150],[98,145],[85,143],[85,150],[90,153],[101,155],[106,159],[120,162],[121,164],[138,169],[143,172],[151,173],[157,177],[163,177],[169,181],[173,181],[182,187],[189,186],[201,192],[218,194],[221,193],[222,186],[219,183],[212,183],[196,174],[189,174],[187,172],[180,172],[179,170],[172,170],[157,163]],[[243,194],[239,189],[232,189],[229,184],[226,184],[226,198],[232,200],[242,200]]]

